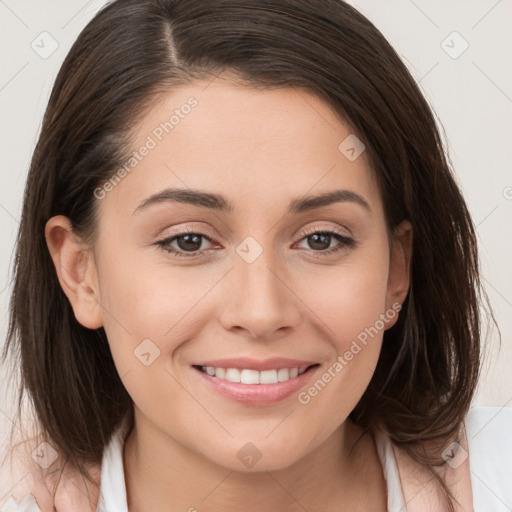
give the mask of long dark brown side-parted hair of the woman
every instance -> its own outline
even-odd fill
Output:
[[[80,325],[44,237],[67,216],[91,239],[94,189],[127,159],[130,128],[160,93],[230,71],[252,87],[318,95],[364,141],[391,231],[414,229],[411,286],[351,418],[420,447],[456,438],[480,361],[475,229],[433,113],[377,28],[341,0],[117,0],[82,31],[55,81],[34,151],[17,239],[4,358],[42,430],[79,468],[100,463],[133,404],[103,328]]]

